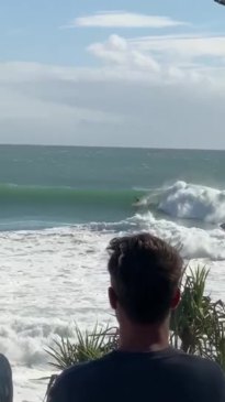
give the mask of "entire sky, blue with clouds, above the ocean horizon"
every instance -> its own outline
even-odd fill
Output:
[[[0,143],[225,149],[225,7],[8,0]]]

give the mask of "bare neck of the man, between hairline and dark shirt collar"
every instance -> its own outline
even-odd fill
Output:
[[[120,350],[159,351],[169,347],[169,320],[155,325],[120,324]]]

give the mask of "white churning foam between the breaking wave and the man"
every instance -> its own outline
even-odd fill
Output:
[[[54,371],[45,348],[58,336],[113,320],[106,290],[106,245],[125,231],[149,230],[182,243],[185,259],[207,263],[207,291],[225,294],[225,232],[187,228],[150,213],[119,224],[1,232],[0,349],[13,366],[15,401],[43,400]]]

